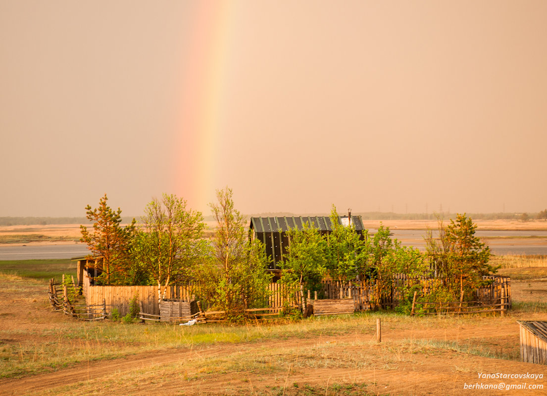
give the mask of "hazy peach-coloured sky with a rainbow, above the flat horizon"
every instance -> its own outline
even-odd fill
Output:
[[[547,2],[0,0],[0,216],[547,207]]]

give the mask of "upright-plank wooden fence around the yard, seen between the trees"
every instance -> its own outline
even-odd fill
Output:
[[[490,280],[491,284],[475,290],[475,300],[478,304],[501,304],[502,293],[505,298],[504,305],[511,308],[511,287],[509,277],[485,276],[484,280]],[[394,309],[399,303],[404,302],[408,296],[401,295],[401,290],[412,285],[419,285],[421,295],[427,295],[436,286],[440,279],[410,278],[404,274],[398,274],[388,282],[388,287],[383,288],[377,295],[377,285],[374,281],[340,282],[324,280],[318,291],[319,299],[353,299],[356,311],[371,309]],[[136,298],[143,312],[151,315],[160,315],[158,305],[157,286],[91,286],[90,277],[84,275],[83,294],[86,304],[97,305],[106,301],[107,311],[111,312],[115,306],[120,316],[129,312],[130,300]],[[309,292],[306,293],[309,296]],[[306,297],[306,296],[305,296]],[[195,298],[195,286],[170,286],[167,288],[165,298],[190,301]],[[309,298],[309,297],[308,297]],[[412,300],[412,299],[410,299]],[[271,312],[277,312],[283,308],[284,303],[292,306],[301,306],[300,293],[296,289],[289,289],[280,283],[271,283],[269,295],[265,296],[261,307],[270,308]],[[204,307],[205,308],[205,307]]]

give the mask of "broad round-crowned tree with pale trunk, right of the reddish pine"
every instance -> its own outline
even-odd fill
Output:
[[[201,212],[187,209],[187,202],[172,194],[163,194],[161,201],[153,199],[142,221],[131,254],[135,265],[158,286],[161,302],[167,287],[189,280],[197,263],[207,256],[208,245],[202,239],[205,224]]]

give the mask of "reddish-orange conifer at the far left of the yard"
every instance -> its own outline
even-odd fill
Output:
[[[104,194],[99,200],[98,208],[91,209],[88,205],[86,218],[93,222],[93,230],[80,226],[82,238],[80,241],[88,245],[91,251],[89,258],[101,258],[103,273],[97,280],[104,285],[126,285],[130,282],[129,272],[131,259],[129,246],[135,232],[135,219],[129,226],[122,227],[121,209],[112,210],[107,205],[107,196]]]

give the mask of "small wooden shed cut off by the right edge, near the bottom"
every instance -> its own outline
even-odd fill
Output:
[[[522,362],[547,364],[547,321],[517,321],[520,324]]]

